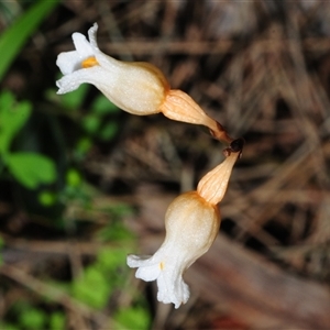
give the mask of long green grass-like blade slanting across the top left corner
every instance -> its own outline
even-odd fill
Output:
[[[0,37],[0,80],[20,50],[46,15],[57,6],[58,0],[40,0],[20,16]]]

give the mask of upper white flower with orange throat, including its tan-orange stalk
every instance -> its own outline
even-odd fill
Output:
[[[232,141],[187,94],[170,89],[157,67],[144,62],[121,62],[103,54],[97,44],[97,30],[95,23],[88,31],[89,41],[84,34],[74,33],[76,51],[58,55],[56,64],[64,77],[56,81],[57,94],[91,84],[127,112],[138,116],[163,112],[173,120],[206,125],[215,138],[227,143]]]

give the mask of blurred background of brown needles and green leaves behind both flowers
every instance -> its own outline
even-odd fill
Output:
[[[157,250],[224,145],[89,85],[57,96],[95,22],[246,142],[178,310],[125,256]],[[330,2],[0,1],[0,329],[330,329]]]

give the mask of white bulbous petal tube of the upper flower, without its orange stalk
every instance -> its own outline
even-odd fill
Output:
[[[162,72],[148,63],[125,63],[103,54],[97,45],[97,23],[89,29],[89,42],[85,35],[74,33],[76,51],[58,55],[56,64],[65,76],[56,82],[57,94],[73,91],[88,82],[130,113],[160,112],[165,92],[169,89]]]

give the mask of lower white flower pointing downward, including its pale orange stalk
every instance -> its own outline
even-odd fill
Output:
[[[158,301],[173,302],[175,308],[187,302],[189,288],[183,274],[209,250],[218,234],[217,204],[226,193],[238,156],[239,153],[231,153],[200,180],[197,191],[183,194],[169,205],[165,216],[166,238],[153,256],[128,256],[128,265],[138,267],[135,277],[157,280]]]

